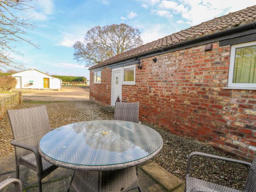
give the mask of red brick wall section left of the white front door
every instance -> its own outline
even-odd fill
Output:
[[[90,100],[102,105],[111,104],[111,69],[103,68],[101,72],[101,83],[93,83],[93,72],[90,72]]]

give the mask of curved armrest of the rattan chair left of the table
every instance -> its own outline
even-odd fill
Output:
[[[32,151],[32,152],[35,154],[35,156],[36,156],[36,168],[37,168],[37,171],[38,171],[38,172],[42,172],[42,171],[43,171],[42,157],[40,156],[40,153],[39,153],[37,147],[33,147],[33,146],[30,146],[30,145],[26,145],[26,144],[17,142],[17,141],[15,141],[15,140],[14,140],[14,141],[11,141],[11,144],[14,145],[14,146],[17,146],[17,147],[24,148],[24,149],[26,149],[26,150]]]

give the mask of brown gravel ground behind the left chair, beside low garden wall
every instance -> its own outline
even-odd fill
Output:
[[[111,119],[112,114],[104,113],[98,104],[93,102],[23,102],[16,109],[45,105],[50,119],[51,128],[57,128],[74,122]],[[8,116],[0,120],[0,157],[14,154],[10,144],[12,130]]]

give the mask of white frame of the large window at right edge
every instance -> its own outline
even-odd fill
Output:
[[[236,45],[231,46],[230,64],[229,64],[229,72],[228,72],[228,87],[230,87],[230,88],[256,88],[256,83],[233,83],[236,48],[248,47],[248,46],[254,46],[254,45],[256,45],[256,41],[241,43],[241,44],[236,44]]]

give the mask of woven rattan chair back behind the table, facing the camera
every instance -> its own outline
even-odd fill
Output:
[[[114,120],[139,122],[139,103],[115,103]]]

